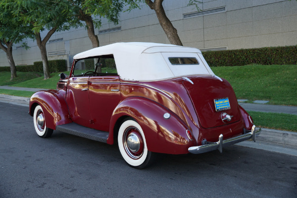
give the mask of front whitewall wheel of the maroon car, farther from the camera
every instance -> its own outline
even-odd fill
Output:
[[[41,138],[49,138],[53,130],[47,127],[45,114],[40,105],[35,107],[33,119],[37,135]]]

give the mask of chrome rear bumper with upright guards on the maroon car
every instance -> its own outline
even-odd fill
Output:
[[[198,153],[203,153],[203,152],[208,152],[211,150],[215,150],[218,149],[220,152],[223,151],[223,146],[228,146],[228,145],[234,145],[236,143],[240,143],[243,142],[245,140],[249,140],[252,139],[254,142],[256,142],[255,140],[255,136],[256,134],[260,134],[261,132],[261,128],[259,128],[257,131],[255,131],[256,126],[253,125],[251,128],[251,132],[246,133],[244,135],[240,135],[234,138],[230,138],[227,140],[223,140],[223,135],[221,134],[219,136],[219,141],[215,142],[215,143],[210,143],[207,145],[202,145],[202,146],[197,146],[197,147],[190,147],[188,148],[189,152],[194,153],[194,154],[198,154]]]

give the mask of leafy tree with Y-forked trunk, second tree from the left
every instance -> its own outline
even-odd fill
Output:
[[[9,10],[23,26],[30,26],[41,52],[44,79],[49,78],[49,62],[46,44],[55,31],[69,29],[71,24],[65,23],[71,17],[66,11],[63,0],[2,0],[0,6]],[[65,1],[65,0],[64,0]],[[47,32],[42,39],[41,32]]]

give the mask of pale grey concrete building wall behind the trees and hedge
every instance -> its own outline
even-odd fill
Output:
[[[186,17],[196,13],[195,6],[187,6],[189,0],[164,0],[168,18],[177,29],[184,46],[198,49],[247,49],[297,45],[297,1],[292,0],[203,0],[198,4],[206,13]],[[204,13],[204,12],[203,12]],[[101,30],[120,30],[99,34]],[[100,46],[116,42],[154,42],[169,44],[159,25],[156,14],[146,4],[141,9],[120,14],[119,24],[106,19],[96,30]],[[45,33],[43,33],[45,35]],[[52,42],[56,40],[56,42]],[[68,55],[92,48],[85,28],[56,32],[47,44],[50,55]],[[16,64],[33,64],[41,60],[37,44],[28,41],[28,50],[13,48]],[[54,57],[52,57],[54,58]],[[50,58],[50,59],[52,59]],[[70,63],[71,64],[71,60]],[[6,54],[0,51],[0,66],[8,66]]]

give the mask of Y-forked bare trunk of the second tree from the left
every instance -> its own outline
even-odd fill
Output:
[[[47,80],[50,77],[49,73],[49,61],[48,61],[48,54],[47,54],[47,48],[46,44],[49,41],[49,38],[51,35],[56,31],[56,27],[53,27],[51,30],[49,30],[48,34],[44,38],[44,40],[41,40],[40,32],[35,33],[35,38],[37,45],[40,49],[41,58],[42,58],[42,64],[43,64],[43,70],[44,70],[44,79]]]

